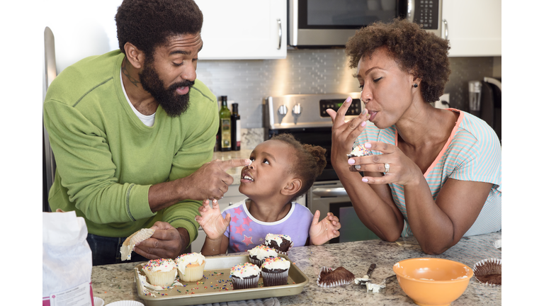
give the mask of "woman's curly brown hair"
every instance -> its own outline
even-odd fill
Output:
[[[406,19],[395,18],[391,23],[376,22],[361,28],[349,38],[346,43],[349,67],[357,67],[361,57],[371,57],[380,47],[387,47],[402,71],[421,79],[424,101],[438,101],[451,73],[448,40]]]

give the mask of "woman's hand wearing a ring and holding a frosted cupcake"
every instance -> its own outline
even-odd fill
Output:
[[[382,154],[351,157],[348,159],[348,164],[356,165],[357,171],[381,172],[384,175],[363,176],[363,182],[372,184],[398,183],[407,186],[416,185],[421,179],[424,179],[419,166],[397,146],[385,142],[365,142],[364,146],[371,151],[382,152]],[[386,164],[389,167],[388,170]]]

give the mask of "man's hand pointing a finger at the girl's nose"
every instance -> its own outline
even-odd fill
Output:
[[[230,184],[234,181],[227,170],[239,166],[251,164],[249,159],[229,159],[203,164],[190,176],[179,179],[180,188],[184,199],[192,200],[213,200],[220,199],[229,190]]]

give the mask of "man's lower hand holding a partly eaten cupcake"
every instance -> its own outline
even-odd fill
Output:
[[[136,244],[134,251],[147,259],[176,259],[189,244],[187,229],[173,227],[168,222],[157,221],[152,237]]]

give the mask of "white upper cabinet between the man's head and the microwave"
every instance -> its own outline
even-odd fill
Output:
[[[287,1],[196,0],[204,14],[199,60],[287,56]]]

